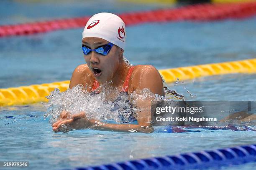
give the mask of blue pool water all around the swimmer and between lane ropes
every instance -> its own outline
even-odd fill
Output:
[[[79,0],[76,3],[3,0],[0,4],[2,25],[79,17],[103,11],[123,13],[163,7],[113,0]],[[84,63],[82,29],[0,38],[0,88],[69,80],[74,68]],[[127,27],[125,57],[133,65],[150,64],[157,69],[254,58],[255,30],[255,17],[136,25]],[[255,100],[255,84],[255,74],[230,74],[180,81],[168,86],[184,95],[186,100]],[[44,119],[45,113],[46,108],[41,103],[0,107],[1,160],[27,160],[29,169],[58,170],[256,142],[254,131],[233,130],[151,134],[97,130],[54,133],[49,117]],[[256,163],[250,163],[222,169],[249,170],[255,166]]]

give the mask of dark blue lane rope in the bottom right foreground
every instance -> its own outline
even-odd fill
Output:
[[[80,167],[72,170],[174,170],[209,168],[256,162],[256,145],[205,150],[156,158],[130,160],[100,166]],[[71,169],[70,169],[71,170]]]

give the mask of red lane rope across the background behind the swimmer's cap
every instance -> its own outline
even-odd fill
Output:
[[[151,22],[171,22],[179,20],[211,21],[228,18],[247,18],[256,15],[256,2],[234,4],[202,4],[162,9],[146,12],[120,14],[125,25],[136,25]],[[24,23],[0,26],[0,37],[15,35],[31,35],[54,30],[81,28],[90,17],[50,20],[44,22]]]

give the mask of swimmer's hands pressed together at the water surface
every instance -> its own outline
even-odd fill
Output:
[[[84,129],[90,127],[93,124],[92,122],[94,121],[90,121],[87,119],[84,111],[72,116],[70,116],[69,112],[63,111],[61,112],[60,120],[52,125],[52,130],[54,130],[54,132],[60,132],[67,130]],[[62,128],[64,125],[66,125],[67,128]]]

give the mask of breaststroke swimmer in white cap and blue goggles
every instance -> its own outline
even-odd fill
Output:
[[[98,13],[92,16],[82,32],[82,50],[87,64],[79,65],[73,72],[69,88],[83,85],[87,92],[96,93],[98,87],[112,82],[121,87],[120,92],[131,94],[135,90],[148,88],[152,93],[164,96],[163,81],[158,70],[152,65],[129,65],[124,60],[126,30],[125,23],[117,15]],[[146,50],[146,49],[145,49]],[[150,108],[151,99],[137,100],[137,108]],[[136,113],[138,124],[110,124],[100,120],[87,119],[86,112],[70,115],[63,111],[60,119],[53,123],[55,132],[61,125],[69,129],[90,128],[119,132],[151,132],[151,112],[140,110]]]

